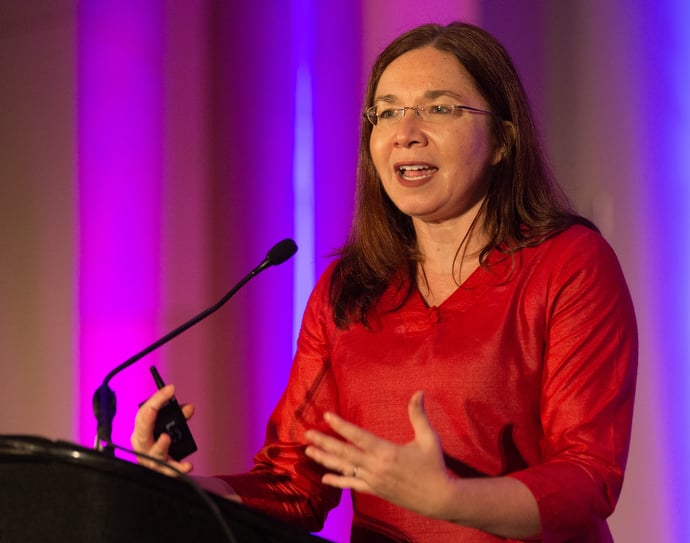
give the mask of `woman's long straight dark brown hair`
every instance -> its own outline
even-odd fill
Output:
[[[491,131],[503,158],[490,173],[482,228],[487,242],[482,265],[494,249],[514,252],[534,246],[574,223],[595,228],[576,215],[546,165],[524,88],[503,46],[486,31],[465,23],[422,25],[394,40],[379,55],[367,85],[365,109],[373,105],[382,73],[404,53],[426,46],[452,54],[473,78],[494,113]],[[383,190],[374,168],[362,119],[355,213],[350,233],[336,254],[330,301],[336,324],[347,327],[367,315],[392,281],[407,285],[401,303],[416,286],[421,259],[412,220]],[[394,308],[393,308],[394,309]]]

